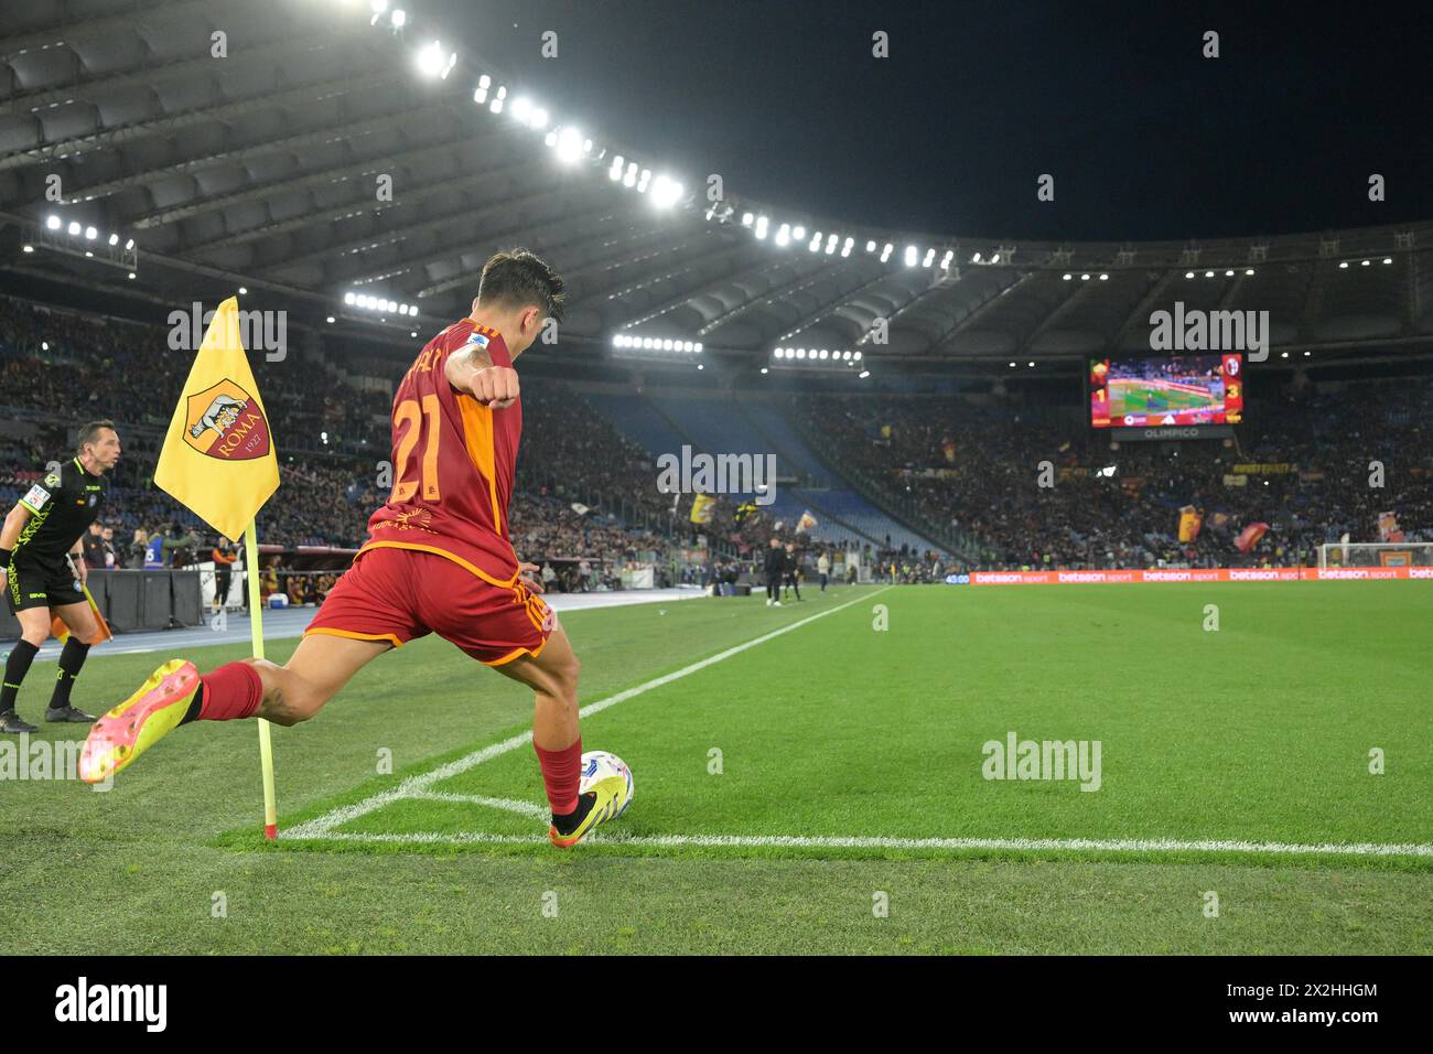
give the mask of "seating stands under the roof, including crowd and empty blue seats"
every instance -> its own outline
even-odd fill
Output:
[[[1360,297],[1354,303],[1364,303]],[[13,502],[64,449],[66,427],[115,414],[126,457],[105,523],[118,548],[129,546],[136,531],[199,529],[149,479],[168,413],[163,391],[179,381],[183,364],[183,356],[152,353],[163,337],[160,327],[0,298],[7,416],[0,500]],[[262,377],[265,366],[255,361]],[[390,370],[394,363],[401,366],[388,360]],[[387,453],[387,397],[338,387],[321,363],[284,369],[291,371],[284,384],[268,386],[284,459],[265,541],[357,548],[381,495],[377,459],[353,450]],[[295,376],[298,394],[289,387]],[[315,390],[328,394],[314,400]],[[1126,443],[1113,452],[1069,399],[1016,407],[813,394],[784,409],[759,397],[732,403],[682,389],[619,394],[610,386],[579,390],[537,380],[524,391],[514,539],[530,546],[527,558],[598,564],[656,552],[669,562],[672,546],[696,533],[709,536],[715,555],[737,558],[777,532],[798,539],[802,551],[856,548],[883,565],[937,549],[947,564],[980,569],[1307,565],[1320,543],[1346,533],[1377,538],[1377,516],[1387,509],[1397,511],[1410,541],[1433,538],[1430,467],[1420,443],[1423,423],[1433,419],[1430,393],[1424,379],[1287,386],[1287,394],[1252,400],[1248,423],[1222,445]],[[289,436],[297,442],[284,442]],[[734,521],[735,508],[752,495],[731,495],[702,531],[689,522],[691,495],[674,506],[655,486],[656,456],[682,443],[708,452],[767,447],[778,456],[778,472],[798,485],[778,488],[777,500],[757,508],[744,526]],[[1387,467],[1381,493],[1360,482],[1370,459]],[[1043,460],[1059,470],[1053,488],[1035,483]],[[1240,465],[1287,470],[1251,475],[1235,472]],[[1207,511],[1208,529],[1181,545],[1175,525],[1185,505]],[[797,532],[807,512],[817,525]],[[1252,554],[1234,551],[1232,536],[1255,521],[1273,529]],[[130,556],[118,559],[123,565]],[[672,565],[669,575],[681,571]]]

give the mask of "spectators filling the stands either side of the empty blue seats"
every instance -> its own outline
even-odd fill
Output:
[[[388,397],[347,386],[322,360],[251,360],[281,443],[281,488],[265,506],[261,541],[357,548],[387,493],[378,480]],[[216,539],[152,482],[189,361],[169,350],[166,327],[0,297],[0,500],[13,503],[63,456],[77,423],[113,417],[125,456],[110,478],[100,559],[145,566],[156,545],[165,565],[203,559]],[[1122,445],[1073,406],[811,396],[794,413],[833,465],[890,508],[913,511],[917,526],[959,554],[866,542],[860,562],[880,581],[940,581],[973,568],[1313,564],[1321,542],[1377,541],[1379,516],[1390,511],[1410,541],[1433,538],[1422,435],[1430,410],[1429,384],[1304,384],[1251,400],[1232,440]],[[651,566],[659,584],[709,584],[734,568],[749,574],[771,536],[794,542],[802,565],[823,549],[838,555],[794,523],[724,498],[692,523],[689,495],[674,508],[656,490],[652,453],[560,383],[524,387],[523,413],[512,536],[555,588],[613,588],[623,566]],[[1369,485],[1374,463],[1381,488]],[[1202,513],[1204,528],[1181,543],[1185,506]],[[1268,533],[1240,552],[1234,539],[1255,522]],[[702,542],[709,561],[698,566],[681,551]],[[310,587],[322,591],[317,579]]]

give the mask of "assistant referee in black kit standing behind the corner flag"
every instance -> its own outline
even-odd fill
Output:
[[[105,473],[119,463],[119,433],[102,420],[80,426],[79,453],[32,486],[0,529],[0,584],[10,611],[20,619],[20,640],[4,664],[0,687],[0,733],[36,731],[20,720],[16,700],[40,645],[57,615],[70,630],[60,651],[60,671],[44,711],[46,721],[87,724],[95,718],[70,706],[70,690],[85,657],[99,637],[99,624],[85,597],[83,538],[105,508]]]

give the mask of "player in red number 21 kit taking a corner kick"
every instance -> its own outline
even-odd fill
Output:
[[[623,780],[577,793],[577,657],[536,595],[537,568],[519,562],[509,541],[522,432],[513,360],[545,318],[562,318],[562,278],[532,252],[489,260],[471,317],[430,340],[398,384],[393,493],[294,655],[284,665],[248,658],[203,675],[192,663],[166,663],[95,726],[80,777],[103,780],[189,721],[307,721],[374,658],[437,632],[533,690],[553,845],[572,846],[613,815]],[[410,700],[421,704],[421,693]]]

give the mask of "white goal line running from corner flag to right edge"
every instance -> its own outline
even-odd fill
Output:
[[[289,833],[288,837],[298,837]],[[332,842],[385,842],[397,845],[546,845],[545,835],[489,835],[457,832],[450,835],[413,832],[403,835],[328,833],[317,835]],[[1197,853],[1278,853],[1285,856],[1426,856],[1433,845],[1324,843],[1288,842],[1098,839],[1098,837],[844,837],[800,835],[593,835],[586,843],[612,846],[698,846],[698,848],[792,848],[792,849],[1006,849],[1006,850],[1095,850],[1115,853],[1197,852]]]

